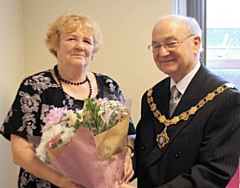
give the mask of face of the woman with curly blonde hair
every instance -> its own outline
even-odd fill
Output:
[[[92,59],[93,50],[93,36],[86,36],[79,28],[72,33],[61,32],[59,47],[56,49],[58,63],[86,68]]]

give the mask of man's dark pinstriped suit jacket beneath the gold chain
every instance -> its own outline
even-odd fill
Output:
[[[204,65],[190,82],[173,115],[195,106],[208,93],[227,83]],[[153,87],[153,99],[168,117],[170,78]],[[133,158],[138,188],[220,188],[237,169],[240,153],[240,93],[227,89],[187,121],[167,129],[169,143],[159,149],[156,135],[164,126],[142,97]]]

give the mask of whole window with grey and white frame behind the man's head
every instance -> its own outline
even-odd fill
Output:
[[[203,31],[201,60],[240,90],[239,0],[173,0],[173,13],[194,17]]]

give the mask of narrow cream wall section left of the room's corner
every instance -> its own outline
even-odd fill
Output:
[[[0,23],[0,122],[3,122],[24,75],[21,0],[0,0]],[[10,142],[2,136],[0,151],[0,187],[17,187],[18,167],[12,163]]]

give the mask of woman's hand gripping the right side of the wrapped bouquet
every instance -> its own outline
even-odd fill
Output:
[[[125,157],[125,162],[124,162],[124,176],[123,176],[123,182],[128,183],[129,180],[133,177],[134,175],[134,170],[133,170],[133,165],[132,165],[132,152],[130,149],[128,149],[126,157]]]

